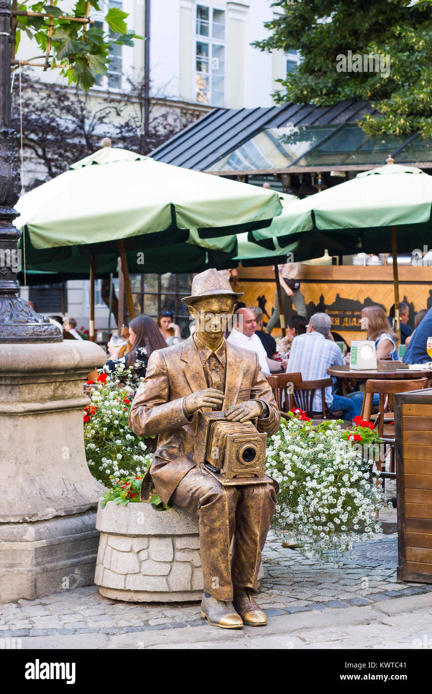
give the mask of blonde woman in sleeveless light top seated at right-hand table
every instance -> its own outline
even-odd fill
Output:
[[[377,359],[391,357],[394,361],[398,360],[396,348],[396,334],[388,321],[386,312],[380,306],[366,306],[361,312],[360,319],[361,330],[366,330],[368,340],[373,340],[375,350],[377,351]],[[363,402],[363,391],[349,393],[348,398],[355,400],[361,407]],[[379,404],[379,394],[374,393],[372,400],[373,405]]]

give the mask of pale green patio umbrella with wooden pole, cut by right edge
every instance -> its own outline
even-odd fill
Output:
[[[339,239],[341,245],[351,244],[352,252],[391,251],[399,332],[397,251],[411,253],[430,243],[431,209],[432,177],[416,167],[388,163],[290,205],[285,215],[288,233],[271,234],[269,227],[249,237],[267,248],[275,236],[286,246],[303,235],[309,243],[327,239],[327,248]]]

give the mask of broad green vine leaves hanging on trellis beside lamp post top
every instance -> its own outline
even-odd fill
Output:
[[[53,5],[43,2],[33,4],[24,2],[18,7],[19,10],[52,15],[53,32],[51,58],[49,58],[51,69],[60,67],[61,74],[67,77],[69,84],[76,83],[84,90],[94,85],[98,73],[106,74],[110,63],[108,53],[112,43],[133,46],[134,39],[142,38],[134,32],[128,32],[125,20],[129,15],[118,8],[103,10],[110,33],[104,32],[102,28],[94,24],[81,24],[64,18],[85,17],[86,6],[85,0],[77,0],[71,9],[64,0],[55,0]],[[90,6],[97,12],[102,12],[98,0],[91,0]],[[90,19],[92,19],[91,11]],[[49,22],[50,17],[17,17],[15,50],[19,46],[21,31],[25,31],[45,53],[49,43]]]

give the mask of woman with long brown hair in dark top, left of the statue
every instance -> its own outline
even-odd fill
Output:
[[[154,350],[166,348],[166,342],[155,321],[146,315],[137,316],[130,321],[129,341],[132,349],[123,357],[120,356],[120,345],[110,348],[111,358],[103,366],[103,371],[114,373],[130,369],[130,384],[136,390],[146,376],[148,357]]]

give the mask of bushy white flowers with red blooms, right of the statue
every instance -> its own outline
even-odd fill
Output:
[[[267,448],[267,473],[281,488],[273,523],[288,525],[303,552],[333,560],[354,539],[381,531],[375,514],[384,495],[371,483],[369,462],[380,439],[361,418],[347,431],[336,420],[313,427],[304,412],[288,414]]]

